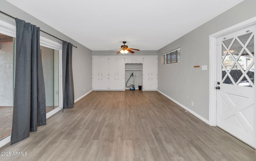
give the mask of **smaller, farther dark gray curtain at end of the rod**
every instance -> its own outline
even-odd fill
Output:
[[[72,43],[62,43],[63,108],[74,106],[74,82],[72,70]]]

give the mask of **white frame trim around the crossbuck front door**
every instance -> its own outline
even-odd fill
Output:
[[[209,36],[209,125],[217,126],[217,38],[256,25],[256,17],[218,31]]]

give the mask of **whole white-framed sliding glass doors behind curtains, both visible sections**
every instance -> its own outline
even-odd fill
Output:
[[[10,142],[16,27],[0,20],[0,147]],[[62,109],[62,42],[40,36],[46,90],[46,118]]]

